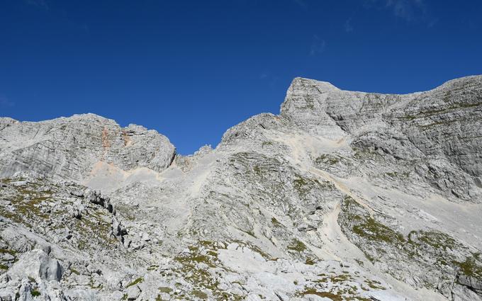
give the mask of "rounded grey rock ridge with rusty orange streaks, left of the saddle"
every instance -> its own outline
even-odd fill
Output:
[[[175,149],[155,130],[139,125],[120,127],[94,114],[74,115],[40,123],[0,122],[0,176],[19,171],[80,181],[103,161],[122,170],[167,169]]]

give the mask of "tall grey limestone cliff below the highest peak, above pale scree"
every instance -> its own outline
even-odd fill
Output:
[[[325,82],[295,79],[281,116],[313,135],[347,139],[352,148],[411,166],[445,195],[480,200],[481,76],[405,95],[342,91]]]

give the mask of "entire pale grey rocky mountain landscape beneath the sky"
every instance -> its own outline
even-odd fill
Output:
[[[482,300],[482,76],[296,78],[176,154],[93,114],[0,118],[0,300]]]

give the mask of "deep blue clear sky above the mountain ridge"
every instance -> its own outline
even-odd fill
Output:
[[[409,93],[482,73],[482,1],[0,2],[0,115],[97,113],[191,154],[296,76]]]

